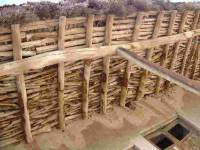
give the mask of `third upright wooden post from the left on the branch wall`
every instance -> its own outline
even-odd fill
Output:
[[[92,34],[93,34],[94,15],[89,15],[87,20],[86,29],[86,45],[92,47]],[[89,84],[92,60],[87,59],[84,61],[84,79],[83,79],[83,118],[88,119],[88,105],[89,105]]]

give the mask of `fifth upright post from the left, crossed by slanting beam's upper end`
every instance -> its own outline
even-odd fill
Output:
[[[137,39],[138,39],[138,35],[140,32],[140,26],[142,24],[143,17],[144,17],[144,13],[139,12],[137,14],[135,28],[133,31],[132,42],[137,41]],[[130,69],[131,69],[131,63],[128,61],[127,65],[126,65],[126,71],[124,74],[124,79],[123,79],[124,81],[123,81],[121,97],[120,97],[120,106],[121,107],[125,107],[125,104],[126,104],[126,99],[127,99],[127,94],[128,94],[128,83],[129,83],[130,76],[131,76]]]

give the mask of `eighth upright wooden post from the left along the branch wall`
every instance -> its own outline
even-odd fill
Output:
[[[182,33],[184,31],[185,23],[187,21],[187,15],[188,15],[188,12],[185,11],[183,13],[183,16],[182,16],[182,21],[181,21],[181,25],[180,25],[180,28],[179,28],[179,33]],[[169,69],[172,69],[172,71],[173,71],[175,63],[177,61],[177,56],[178,56],[180,44],[181,44],[181,41],[176,43],[176,47],[174,49],[174,54],[172,55],[172,62],[171,62],[170,68],[169,68]]]

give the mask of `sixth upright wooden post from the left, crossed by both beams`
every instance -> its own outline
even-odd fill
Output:
[[[158,14],[157,21],[156,21],[156,24],[155,24],[155,27],[154,27],[152,39],[158,37],[158,33],[160,31],[162,19],[163,19],[163,12],[160,12]],[[151,61],[151,58],[152,58],[152,55],[153,55],[153,50],[154,50],[154,48],[147,50],[146,59],[149,60],[149,61]],[[137,95],[136,99],[141,99],[141,98],[144,97],[145,82],[146,82],[148,74],[149,74],[149,72],[144,70],[142,77],[141,77],[141,80],[140,80],[140,85],[138,87],[139,89],[138,89],[138,95]]]

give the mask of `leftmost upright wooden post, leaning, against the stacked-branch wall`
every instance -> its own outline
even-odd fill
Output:
[[[12,46],[13,46],[13,56],[14,60],[22,60],[22,47],[21,47],[21,35],[20,35],[20,26],[18,24],[11,26],[12,30]],[[31,123],[30,116],[28,111],[27,103],[27,93],[26,85],[24,81],[24,74],[20,73],[16,76],[16,84],[18,91],[19,103],[21,105],[21,112],[23,113],[23,127],[26,136],[27,143],[33,141],[31,133]]]

